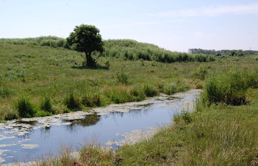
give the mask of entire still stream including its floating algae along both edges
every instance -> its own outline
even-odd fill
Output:
[[[64,145],[80,147],[94,142],[117,148],[150,138],[159,127],[170,123],[173,114],[183,109],[191,111],[200,92],[193,89],[141,102],[112,104],[90,112],[5,121],[0,123],[0,164],[55,156]]]

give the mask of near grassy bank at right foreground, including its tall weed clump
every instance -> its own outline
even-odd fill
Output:
[[[253,72],[255,69],[253,66],[230,66],[207,75],[204,93],[196,101],[195,111],[184,110],[175,115],[173,124],[161,129],[150,140],[124,145],[115,152],[87,145],[80,150],[79,159],[64,153],[59,159],[39,165],[257,165],[258,80],[257,72]],[[212,76],[216,79],[211,79]],[[250,81],[251,78],[255,79]],[[222,82],[224,79],[229,83]],[[235,79],[240,83],[236,84]],[[228,99],[234,101],[235,98],[224,100],[223,95],[217,96],[220,100],[215,101],[210,98],[214,97],[213,93],[207,93],[211,87],[222,94],[244,96],[248,103],[234,106]]]

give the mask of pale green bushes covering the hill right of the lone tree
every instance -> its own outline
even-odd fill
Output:
[[[105,40],[104,56],[116,57],[125,60],[147,60],[157,62],[210,62],[215,61],[212,55],[188,54],[186,52],[172,52],[159,48],[154,44],[141,43],[130,39]]]

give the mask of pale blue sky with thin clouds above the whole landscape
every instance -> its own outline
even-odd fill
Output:
[[[66,38],[81,24],[171,51],[258,50],[257,0],[0,0],[0,38]]]

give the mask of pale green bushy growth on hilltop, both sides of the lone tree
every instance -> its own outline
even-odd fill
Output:
[[[209,62],[215,61],[214,56],[204,54],[188,54],[186,52],[172,52],[159,48],[154,44],[141,43],[130,39],[109,39],[104,40],[105,51],[103,56],[116,57],[123,60],[147,60],[157,62]],[[52,48],[63,47],[73,49],[65,39],[54,36],[42,36],[23,39],[0,39],[0,43],[9,43],[27,46],[48,46]]]

